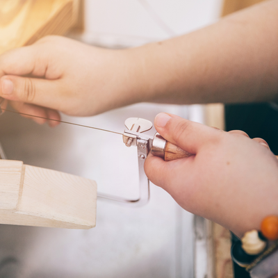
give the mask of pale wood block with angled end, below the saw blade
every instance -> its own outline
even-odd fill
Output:
[[[72,174],[0,160],[0,223],[90,229],[97,184]]]

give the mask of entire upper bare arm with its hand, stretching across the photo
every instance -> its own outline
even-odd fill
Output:
[[[142,101],[275,101],[277,93],[278,0],[134,49],[54,36],[0,56],[0,97],[40,117],[44,108],[88,116]]]

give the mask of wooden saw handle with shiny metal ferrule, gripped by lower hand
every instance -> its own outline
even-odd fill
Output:
[[[175,159],[192,156],[189,152],[165,140],[158,132],[154,134],[151,153],[165,161],[174,161]]]

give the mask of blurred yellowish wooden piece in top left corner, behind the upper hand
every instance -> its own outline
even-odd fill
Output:
[[[0,0],[0,54],[45,35],[63,35],[78,18],[79,0]]]

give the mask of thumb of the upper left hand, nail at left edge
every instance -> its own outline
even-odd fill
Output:
[[[0,97],[60,110],[57,101],[57,80],[6,75],[0,79]]]

